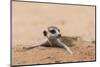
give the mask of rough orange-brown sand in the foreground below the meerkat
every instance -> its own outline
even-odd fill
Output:
[[[48,64],[63,62],[95,61],[95,43],[74,41],[69,46],[73,51],[70,55],[65,49],[58,47],[36,47],[24,50],[24,46],[13,48],[13,65]]]

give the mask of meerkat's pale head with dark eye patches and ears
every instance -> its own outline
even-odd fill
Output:
[[[58,29],[55,26],[50,26],[48,27],[48,30],[44,30],[43,31],[44,36],[48,36],[48,37],[56,37],[59,38],[61,37],[61,33],[60,33],[60,29]]]

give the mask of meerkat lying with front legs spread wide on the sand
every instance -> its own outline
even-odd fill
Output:
[[[44,43],[42,43],[40,45],[28,47],[26,49],[31,49],[31,48],[35,48],[35,47],[39,47],[39,46],[61,47],[61,48],[64,48],[65,50],[67,50],[70,54],[73,54],[71,49],[61,41],[60,29],[58,29],[57,27],[55,27],[55,26],[48,27],[47,30],[43,31],[43,35],[47,38],[47,40]]]

